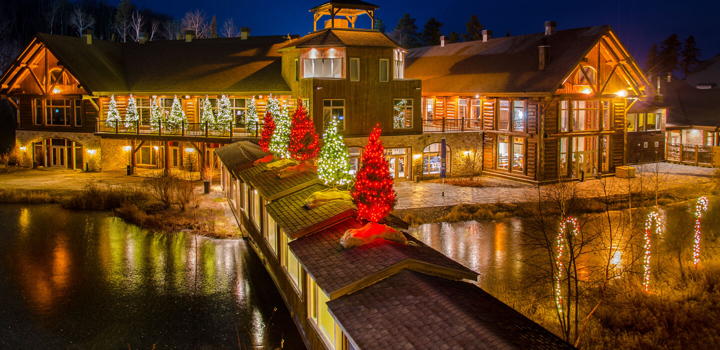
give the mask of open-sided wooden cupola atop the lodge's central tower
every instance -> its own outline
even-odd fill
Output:
[[[310,9],[313,15],[312,30],[318,30],[318,20],[325,15],[330,16],[330,19],[325,20],[325,28],[354,28],[355,21],[361,14],[370,17],[370,29],[375,29],[377,9],[379,9],[377,5],[361,0],[328,1]]]

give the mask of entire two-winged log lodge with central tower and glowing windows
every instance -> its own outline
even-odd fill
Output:
[[[634,162],[624,125],[649,83],[610,27],[547,22],[537,34],[485,31],[483,40],[406,50],[372,29],[377,8],[328,1],[310,9],[315,31],[302,37],[249,28],[140,42],[38,34],[0,78],[0,95],[17,108],[27,164],[65,169],[215,164],[220,145],[257,140],[271,95],[289,112],[307,104],[320,135],[338,120],[353,169],[379,124],[396,179],[437,176],[442,138],[449,176],[554,181]],[[233,122],[202,123],[201,100],[215,108],[222,94]],[[139,122],[104,121],[111,97],[123,116],[130,96]],[[167,115],[174,97],[186,122],[150,122],[151,104]],[[259,123],[248,122],[253,102]]]

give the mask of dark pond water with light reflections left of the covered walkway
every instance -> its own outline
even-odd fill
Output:
[[[0,205],[0,330],[6,349],[305,349],[245,241],[55,205]]]

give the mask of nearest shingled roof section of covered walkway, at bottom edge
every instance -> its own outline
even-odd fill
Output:
[[[355,349],[575,349],[473,284],[409,270],[328,308]]]

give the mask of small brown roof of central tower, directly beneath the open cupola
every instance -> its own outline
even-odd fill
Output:
[[[300,39],[284,45],[289,48],[322,48],[342,46],[373,46],[379,48],[401,48],[397,42],[377,30],[361,30],[354,28],[328,28],[312,32]]]

